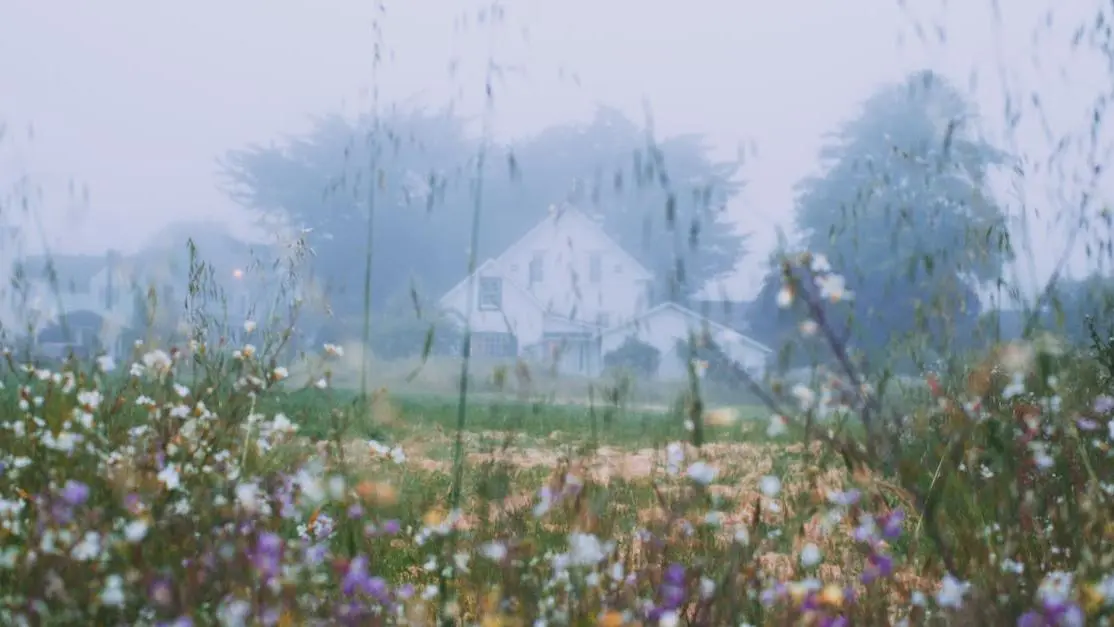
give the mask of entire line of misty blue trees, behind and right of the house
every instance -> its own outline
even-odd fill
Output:
[[[659,301],[692,304],[707,281],[761,264],[763,288],[734,322],[803,355],[819,340],[802,336],[800,315],[778,306],[778,258],[820,253],[854,293],[824,305],[842,339],[867,355],[900,343],[928,357],[1020,332],[1013,317],[981,311],[976,293],[1001,281],[1014,258],[1005,210],[987,188],[987,174],[1010,158],[980,136],[978,111],[952,85],[931,71],[910,75],[828,137],[821,172],[795,189],[798,236],[771,259],[746,257],[746,234],[724,210],[744,189],[741,163],[712,158],[701,135],[652,138],[614,109],[514,147],[473,137],[448,112],[330,116],[301,137],[234,150],[223,166],[244,206],[313,228],[314,273],[341,319],[363,313],[373,206],[379,353],[421,349],[418,327],[428,323],[416,324],[416,310],[432,320],[437,297],[463,278],[482,189],[479,261],[551,205],[574,203],[600,214],[605,231],[655,272]],[[745,228],[768,226],[749,222],[743,205]],[[1062,283],[1046,322],[1084,337],[1082,317],[1105,311],[1096,294],[1107,286],[1095,277]]]

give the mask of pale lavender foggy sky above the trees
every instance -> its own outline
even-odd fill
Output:
[[[1089,133],[1089,107],[1110,92],[1111,72],[1096,55],[1071,51],[1069,40],[1101,2],[1012,0],[1000,23],[989,0],[907,3],[508,0],[505,22],[462,28],[459,18],[480,3],[388,2],[380,19],[387,52],[373,78],[369,0],[7,0],[0,197],[22,176],[41,188],[32,207],[55,251],[134,249],[177,219],[216,217],[244,228],[247,214],[215,186],[219,155],[305,130],[312,115],[368,110],[375,86],[381,106],[452,101],[479,116],[491,59],[507,68],[490,117],[500,139],[584,119],[604,104],[636,120],[648,106],[658,135],[706,133],[723,156],[755,146],[742,172],[746,190],[731,207],[753,234],[752,251],[724,283],[729,295],[749,297],[775,226],[789,226],[792,185],[817,167],[823,134],[885,81],[931,67],[961,87],[974,84],[990,129],[1030,164],[1046,160],[1063,137]],[[917,22],[929,43],[917,38]],[[935,25],[946,41],[936,40]],[[459,69],[450,76],[453,59]],[[1033,91],[1044,120],[1034,115]],[[1008,137],[1007,92],[1024,96],[1025,110]],[[1112,137],[1105,133],[1103,144]],[[1063,219],[1057,209],[1082,192],[1068,178],[1086,169],[1085,148],[1073,150],[1059,166],[1066,174],[1029,173],[1023,189],[1046,216],[1033,246],[1038,277],[1066,242],[1048,216]],[[1104,198],[1112,192],[1104,179]],[[1085,266],[1079,251],[1077,268]]]

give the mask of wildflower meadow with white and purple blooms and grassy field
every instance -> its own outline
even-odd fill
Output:
[[[1114,614],[1114,349],[1098,334],[1000,345],[897,394],[831,370],[740,380],[749,404],[705,405],[697,386],[647,409],[505,389],[498,370],[470,400],[361,393],[338,384],[351,347],[287,368],[243,325],[120,363],[6,353],[3,624]]]

